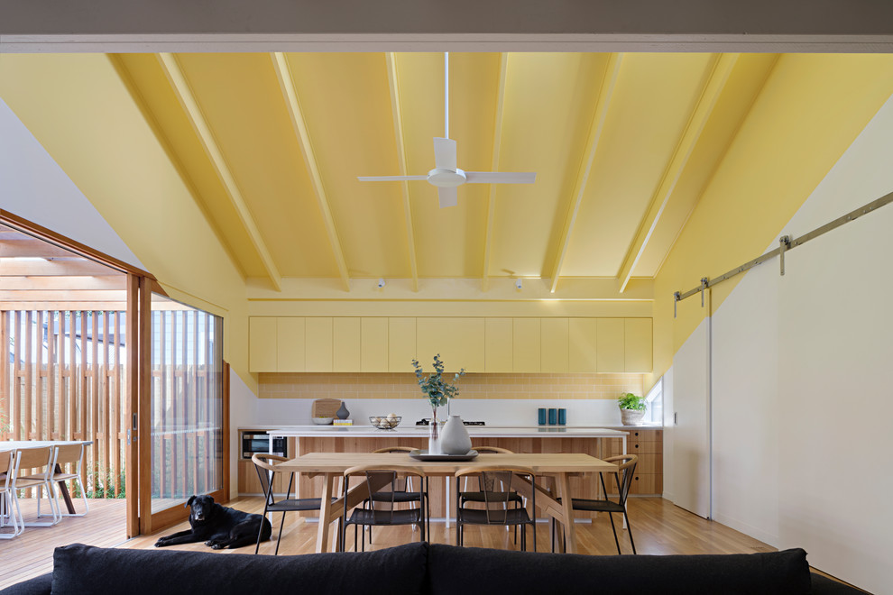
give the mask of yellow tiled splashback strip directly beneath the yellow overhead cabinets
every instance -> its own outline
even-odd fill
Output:
[[[617,398],[642,394],[642,374],[465,374],[459,398]],[[261,398],[419,398],[410,372],[263,372]]]

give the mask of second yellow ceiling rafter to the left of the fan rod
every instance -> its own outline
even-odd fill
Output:
[[[341,283],[344,285],[345,291],[350,291],[350,276],[347,273],[345,251],[341,245],[341,239],[338,236],[335,219],[332,216],[332,209],[328,205],[326,188],[323,186],[322,176],[319,174],[317,158],[313,152],[313,145],[310,143],[307,121],[304,119],[304,113],[300,107],[298,89],[295,87],[294,78],[291,77],[289,61],[285,58],[285,54],[280,51],[273,52],[271,57],[273,69],[276,71],[276,78],[279,79],[279,87],[282,90],[282,96],[285,98],[285,105],[289,110],[291,126],[294,128],[295,135],[298,138],[301,153],[304,155],[304,163],[310,174],[310,182],[313,185],[313,192],[317,197],[319,211],[323,217],[324,224],[326,224],[328,242],[331,245],[332,252],[335,256],[338,273],[341,276]]]

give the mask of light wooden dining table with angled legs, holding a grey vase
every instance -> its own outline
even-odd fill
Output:
[[[319,508],[319,527],[317,532],[317,552],[327,552],[329,543],[329,526],[340,521],[344,513],[345,498],[347,508],[354,508],[367,497],[364,484],[351,488],[346,496],[336,494],[335,480],[343,478],[345,470],[356,465],[382,465],[383,469],[400,469],[411,467],[423,471],[428,476],[452,476],[456,471],[465,468],[487,467],[528,467],[533,470],[538,481],[536,503],[539,517],[554,518],[565,532],[566,552],[576,552],[576,534],[574,528],[574,511],[571,503],[568,478],[578,473],[615,472],[617,465],[604,462],[588,454],[581,453],[483,453],[471,461],[419,461],[402,453],[307,453],[297,458],[283,461],[276,465],[277,470],[299,472],[309,477],[322,476],[323,490]],[[545,490],[539,478],[555,479],[557,494]],[[340,483],[340,482],[339,482]],[[519,492],[532,501],[534,485],[519,482]],[[316,495],[314,495],[316,496]],[[337,496],[336,500],[332,500]],[[558,499],[561,499],[559,502]],[[580,495],[584,496],[584,495]]]

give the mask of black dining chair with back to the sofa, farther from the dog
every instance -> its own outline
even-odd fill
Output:
[[[481,500],[461,499],[459,481],[465,477],[477,476],[482,490]],[[519,481],[529,481],[532,487],[530,505],[537,509],[536,476],[529,467],[508,467],[492,465],[488,467],[466,467],[456,471],[456,545],[463,545],[465,525],[521,526],[521,550],[527,550],[526,526],[533,527],[533,551],[537,551],[536,518],[530,517],[527,508],[510,508],[511,502],[520,498],[517,488]],[[499,485],[499,491],[495,487]],[[476,498],[476,497],[475,497]],[[467,504],[483,504],[483,508],[469,508]]]

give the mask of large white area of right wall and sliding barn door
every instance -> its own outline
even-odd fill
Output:
[[[779,235],[893,191],[891,155],[893,99]],[[893,592],[891,230],[884,206],[789,252],[784,277],[750,270],[713,316],[714,518],[872,592]]]

